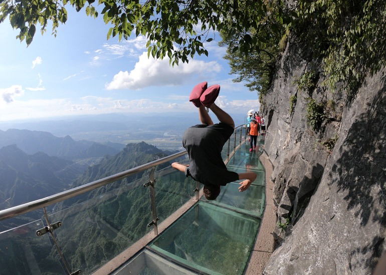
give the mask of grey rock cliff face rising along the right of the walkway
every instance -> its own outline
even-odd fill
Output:
[[[369,274],[386,250],[386,69],[347,101],[323,79],[299,89],[318,67],[308,56],[290,40],[263,107],[280,224],[264,274]],[[324,106],[317,129],[311,98]]]

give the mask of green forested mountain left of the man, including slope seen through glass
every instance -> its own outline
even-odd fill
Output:
[[[145,142],[129,143],[115,156],[105,157],[99,164],[89,167],[74,186],[166,155]],[[157,216],[160,220],[188,200],[195,186],[192,179],[171,168],[170,163],[158,165],[156,171],[162,168],[167,170],[165,176],[155,173]],[[63,221],[58,236],[66,240],[63,252],[69,255],[74,269],[90,272],[101,263],[101,259],[109,260],[151,229],[147,226],[152,218],[150,190],[143,186],[149,180],[148,175],[149,170],[138,172],[56,206],[62,211],[55,218]]]

